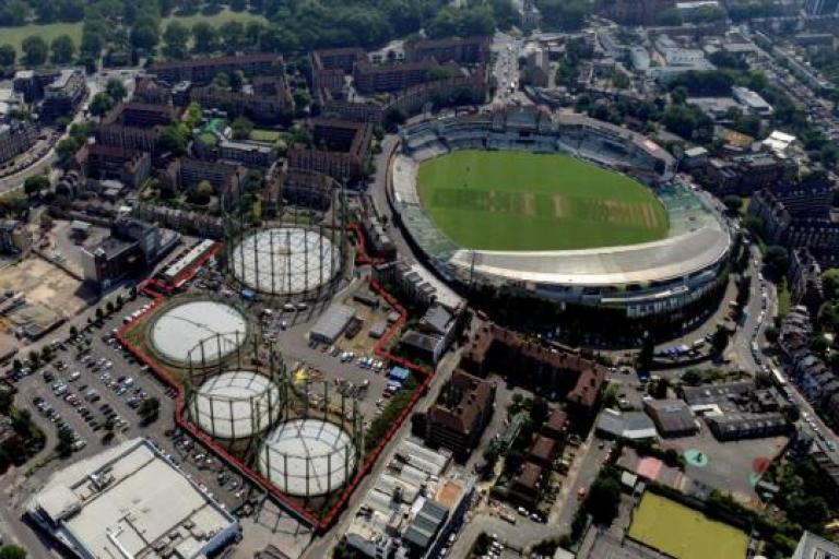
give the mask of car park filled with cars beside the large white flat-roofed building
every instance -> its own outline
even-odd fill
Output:
[[[146,437],[226,508],[251,512],[250,484],[175,428],[176,392],[164,386],[114,337],[127,313],[149,304],[147,298],[138,297],[101,328],[91,325],[70,343],[56,344],[57,357],[48,366],[35,371],[25,367],[24,374],[10,377],[20,391],[17,403],[32,412],[52,441],[48,444],[55,444],[58,430],[69,431],[74,439],[74,460],[96,454],[119,440]],[[157,419],[146,425],[139,411],[149,399],[159,402],[159,412]],[[109,441],[106,433],[111,427]],[[63,464],[54,462],[39,476]]]

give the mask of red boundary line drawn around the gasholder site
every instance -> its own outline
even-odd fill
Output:
[[[356,231],[359,238],[358,254],[356,255],[356,261],[362,264],[368,264],[368,263],[374,264],[374,263],[380,262],[381,261],[380,259],[375,259],[367,254],[366,248],[364,246],[364,240],[365,240],[364,234],[362,231],[362,228],[358,226],[358,224],[352,224],[350,225],[350,227]],[[405,419],[407,419],[409,415],[413,412],[413,408],[416,405],[417,401],[423,396],[425,391],[428,389],[428,385],[432,383],[432,380],[434,379],[434,370],[427,367],[422,367],[420,365],[416,365],[415,362],[409,359],[393,355],[385,349],[385,346],[390,342],[390,340],[392,340],[393,336],[395,336],[402,330],[402,326],[404,326],[405,322],[407,321],[407,312],[405,311],[404,307],[402,307],[397,301],[397,299],[392,295],[390,295],[377,281],[370,280],[369,284],[373,290],[379,294],[386,301],[388,301],[388,304],[397,312],[399,312],[399,320],[397,320],[393,324],[391,324],[388,331],[385,333],[385,335],[381,336],[381,338],[378,342],[376,342],[374,346],[374,353],[379,357],[387,359],[390,362],[401,365],[402,367],[405,367],[414,371],[415,373],[418,373],[420,376],[423,377],[423,382],[414,391],[414,394],[412,395],[407,405],[399,415],[399,417],[397,417],[393,424],[391,424],[390,429],[388,429],[388,431],[385,433],[385,437],[382,437],[381,441],[376,445],[373,452],[367,456],[367,460],[364,462],[362,467],[358,468],[352,481],[350,481],[350,484],[344,488],[343,492],[341,493],[341,497],[338,499],[335,504],[332,506],[332,508],[326,513],[323,519],[318,519],[311,511],[306,510],[296,500],[281,492],[262,474],[243,464],[241,461],[239,461],[237,457],[229,454],[212,437],[202,432],[194,424],[189,421],[186,417],[186,414],[184,413],[185,397],[186,397],[186,392],[184,390],[184,386],[180,383],[178,383],[169,374],[169,372],[166,371],[154,358],[149,356],[145,352],[143,352],[139,347],[135,347],[126,337],[126,333],[130,329],[137,325],[137,323],[140,320],[142,320],[150,311],[152,311],[154,308],[161,305],[167,298],[168,295],[172,295],[172,293],[175,290],[176,287],[179,287],[180,285],[184,285],[189,280],[191,280],[196,275],[198,270],[212,255],[216,254],[222,247],[223,247],[223,243],[214,245],[213,248],[210,249],[203,257],[201,257],[193,265],[185,270],[184,273],[178,276],[178,278],[174,282],[174,287],[166,286],[162,282],[154,278],[142,282],[139,288],[142,293],[144,293],[145,295],[152,298],[152,304],[150,305],[149,309],[145,312],[143,312],[142,314],[139,314],[137,318],[132,319],[130,322],[128,322],[127,324],[123,324],[119,329],[119,331],[117,332],[117,340],[119,340],[119,343],[123,347],[126,347],[138,360],[147,365],[151,371],[157,377],[157,379],[159,379],[164,384],[166,384],[167,386],[176,391],[177,395],[175,399],[175,425],[177,425],[179,428],[184,429],[185,431],[189,432],[196,439],[200,440],[206,448],[211,449],[215,454],[218,455],[218,457],[224,460],[231,467],[238,469],[240,473],[245,474],[251,480],[256,481],[260,487],[262,487],[262,489],[270,492],[280,502],[282,502],[284,506],[286,506],[292,511],[294,511],[294,513],[297,514],[300,519],[311,524],[317,531],[326,532],[336,522],[339,515],[341,514],[341,512],[343,512],[344,507],[346,507],[347,502],[350,501],[350,497],[358,488],[358,485],[362,483],[362,480],[370,473],[374,465],[376,464],[376,461],[385,451],[385,448],[391,441],[391,439],[397,433],[397,431],[402,427]]]

